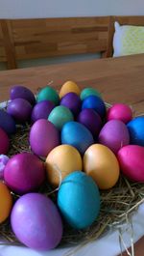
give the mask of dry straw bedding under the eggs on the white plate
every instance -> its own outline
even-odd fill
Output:
[[[9,156],[21,152],[31,152],[28,143],[29,130],[29,125],[26,125],[25,127],[19,126],[17,128],[17,133],[12,136],[12,147]],[[40,187],[40,190],[38,191],[48,195],[54,202],[57,199],[58,189],[53,190],[50,186],[45,184]],[[17,197],[18,195],[13,194],[14,200],[16,200]],[[128,226],[130,226],[131,215],[134,211],[137,210],[138,206],[142,202],[144,202],[144,185],[133,183],[121,175],[118,183],[113,188],[101,191],[101,211],[98,219],[92,224],[91,227],[85,230],[76,231],[69,227],[66,223],[64,223],[64,233],[60,242],[60,246],[77,245],[76,247],[74,247],[74,249],[72,249],[72,251],[70,250],[69,253],[66,254],[73,255],[85,244],[87,244],[88,242],[93,242],[101,236],[104,236],[109,229],[112,230],[115,225],[117,225],[122,251],[122,246],[125,247],[126,245],[123,241],[121,225],[124,221],[127,221]],[[9,219],[5,223],[2,223],[0,225],[0,239],[4,241],[1,244],[20,245],[20,242],[18,242],[12,234]],[[134,255],[133,242],[132,254],[128,251],[128,249],[127,253],[128,255]]]

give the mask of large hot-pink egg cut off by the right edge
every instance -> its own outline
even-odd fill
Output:
[[[132,181],[144,183],[144,147],[128,145],[118,152],[121,171]]]

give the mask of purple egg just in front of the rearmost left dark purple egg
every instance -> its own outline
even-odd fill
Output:
[[[28,100],[14,99],[9,102],[7,112],[19,122],[26,122],[30,119],[32,113],[32,105]]]

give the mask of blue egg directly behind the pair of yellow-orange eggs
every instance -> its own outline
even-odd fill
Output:
[[[93,143],[91,132],[78,122],[68,122],[61,129],[61,144],[75,147],[82,155]]]

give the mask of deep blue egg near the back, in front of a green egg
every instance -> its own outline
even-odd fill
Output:
[[[106,106],[105,102],[98,96],[88,96],[83,100],[82,109],[92,108],[94,109],[101,118],[104,118],[106,115]]]

